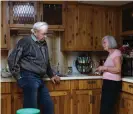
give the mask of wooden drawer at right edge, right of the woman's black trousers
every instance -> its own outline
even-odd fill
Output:
[[[128,82],[122,83],[122,91],[133,94],[133,84]]]

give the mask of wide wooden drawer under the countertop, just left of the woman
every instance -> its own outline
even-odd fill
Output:
[[[71,82],[72,89],[100,89],[102,80],[75,80]]]

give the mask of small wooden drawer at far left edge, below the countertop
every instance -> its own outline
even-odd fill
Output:
[[[11,93],[11,83],[2,82],[1,83],[1,93]]]

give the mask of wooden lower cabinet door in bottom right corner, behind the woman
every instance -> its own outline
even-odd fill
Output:
[[[133,114],[133,95],[122,93],[119,104],[119,114]]]

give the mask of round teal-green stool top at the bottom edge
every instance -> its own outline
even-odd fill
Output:
[[[16,114],[40,114],[40,110],[36,108],[23,108],[17,110]]]

